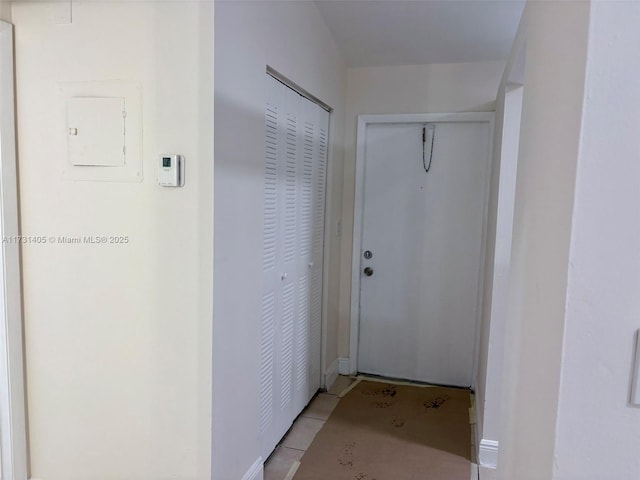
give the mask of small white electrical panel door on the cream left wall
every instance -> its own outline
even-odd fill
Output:
[[[123,97],[68,99],[69,162],[74,166],[124,166],[125,117]]]

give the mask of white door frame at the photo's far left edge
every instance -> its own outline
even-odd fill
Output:
[[[0,233],[19,238],[13,25],[0,21]],[[8,114],[6,112],[9,112]],[[27,478],[20,243],[0,244],[0,468]]]

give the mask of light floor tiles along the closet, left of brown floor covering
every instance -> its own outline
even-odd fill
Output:
[[[338,395],[355,378],[340,375],[326,393],[320,393],[300,414],[289,433],[276,447],[264,466],[264,480],[285,480],[291,467],[299,462],[324,422],[338,405]]]

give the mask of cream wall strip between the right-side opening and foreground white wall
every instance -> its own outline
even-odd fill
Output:
[[[498,457],[505,480],[553,478],[588,21],[583,2],[530,2],[521,23],[525,90]]]

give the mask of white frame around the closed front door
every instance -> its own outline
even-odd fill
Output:
[[[398,123],[468,123],[478,122],[489,125],[489,141],[487,151],[487,165],[491,168],[490,159],[493,149],[493,119],[494,112],[464,112],[464,113],[410,113],[410,114],[382,114],[358,115],[358,130],[356,137],[356,173],[355,173],[355,201],[353,209],[353,249],[351,251],[351,325],[349,335],[349,371],[358,371],[358,343],[360,340],[360,252],[362,251],[362,220],[364,213],[364,171],[366,163],[366,132],[369,125],[398,124]],[[490,170],[484,188],[484,213],[482,225],[482,245],[479,283],[476,298],[476,325],[474,340],[473,367],[471,372],[472,388],[478,369],[478,352],[480,340],[480,322],[482,319],[483,271],[485,263],[485,245],[487,237],[487,214],[489,211],[489,183]]]

